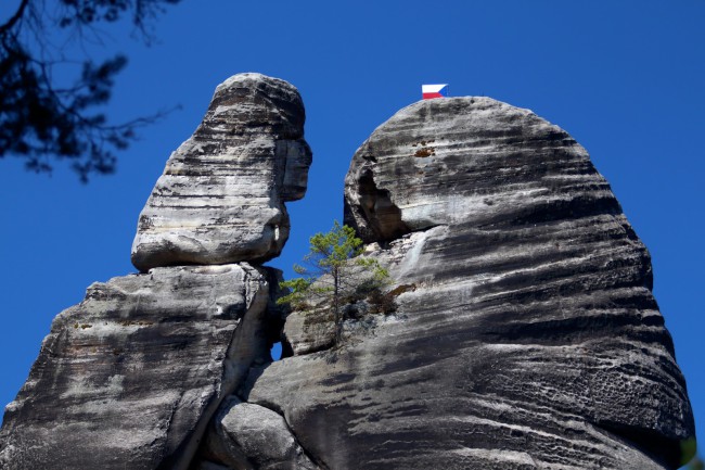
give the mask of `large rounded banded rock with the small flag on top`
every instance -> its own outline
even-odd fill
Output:
[[[345,201],[413,289],[243,392],[321,467],[678,467],[693,417],[649,253],[565,131],[487,98],[419,102],[358,150]]]

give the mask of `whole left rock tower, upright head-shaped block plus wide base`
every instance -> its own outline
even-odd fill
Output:
[[[286,241],[284,202],[306,191],[304,120],[283,80],[218,86],[140,215],[142,274],[94,283],[53,321],[5,409],[0,468],[191,467],[221,402],[271,360],[281,274],[260,263]]]

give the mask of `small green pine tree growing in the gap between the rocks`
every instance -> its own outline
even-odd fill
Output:
[[[362,240],[355,230],[335,220],[325,233],[309,239],[309,253],[304,265],[294,265],[302,277],[281,283],[290,293],[277,303],[304,309],[307,304],[323,300],[333,310],[335,344],[341,343],[343,322],[347,319],[342,306],[350,293],[377,293],[389,280],[389,272],[376,259],[360,256]]]

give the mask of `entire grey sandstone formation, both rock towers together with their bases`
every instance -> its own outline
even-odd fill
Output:
[[[325,306],[283,325],[259,265],[305,190],[303,122],[281,80],[218,88],[140,217],[149,272],[54,320],[3,470],[678,468],[693,417],[649,253],[585,149],[488,98],[380,126],[345,221],[394,285],[350,296],[333,347]]]

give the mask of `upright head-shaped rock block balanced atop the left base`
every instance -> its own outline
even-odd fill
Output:
[[[240,74],[220,84],[140,215],[132,264],[146,271],[278,256],[290,230],[284,202],[306,192],[304,120],[286,81]]]

